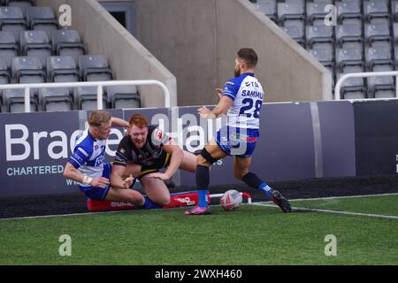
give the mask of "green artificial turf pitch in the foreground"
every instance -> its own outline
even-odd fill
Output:
[[[294,207],[398,217],[398,195],[293,201]],[[0,220],[0,264],[398,264],[398,218],[242,204],[213,214],[131,210]],[[61,235],[71,256],[60,256]],[[326,256],[326,235],[336,256]]]

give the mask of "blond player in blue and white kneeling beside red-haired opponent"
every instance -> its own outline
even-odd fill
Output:
[[[80,191],[88,199],[144,205],[145,200],[139,192],[127,189],[133,184],[133,175],[140,172],[140,167],[126,168],[126,174],[130,177],[123,180],[122,187],[114,188],[110,184],[111,164],[105,163],[105,146],[111,126],[128,127],[128,123],[111,117],[108,111],[93,111],[89,114],[88,126],[77,137],[73,155],[65,165],[64,177],[77,181]]]

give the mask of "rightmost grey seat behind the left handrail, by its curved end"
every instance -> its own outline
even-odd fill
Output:
[[[107,87],[108,101],[112,108],[140,108],[141,98],[135,86]]]

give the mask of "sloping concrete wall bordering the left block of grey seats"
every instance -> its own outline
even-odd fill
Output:
[[[177,105],[176,78],[149,50],[96,0],[38,0],[37,4],[58,11],[72,7],[72,27],[78,30],[88,54],[107,57],[115,80],[160,80],[169,89],[171,105]],[[156,86],[139,87],[142,107],[163,107],[163,91]]]

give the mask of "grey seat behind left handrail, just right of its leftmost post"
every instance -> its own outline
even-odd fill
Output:
[[[39,103],[42,104],[43,111],[73,110],[73,99],[68,88],[41,88]]]

